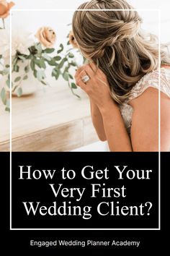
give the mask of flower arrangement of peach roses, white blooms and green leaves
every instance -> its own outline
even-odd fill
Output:
[[[3,6],[3,8],[1,8]],[[0,0],[0,17],[3,19],[3,27],[0,30],[0,75],[5,77],[5,85],[1,88],[1,101],[9,111],[9,95],[6,93],[10,87],[9,75],[9,32],[5,29],[4,18],[9,16],[9,9],[14,3],[7,3]],[[72,72],[79,67],[76,61],[76,54],[81,56],[73,33],[67,35],[67,45],[60,44],[55,49],[56,33],[51,27],[40,27],[35,35],[32,33],[15,33],[12,31],[12,93],[18,97],[22,95],[22,82],[29,78],[32,72],[36,80],[42,85],[49,85],[46,71],[50,70],[50,76],[58,80],[63,77],[68,82],[73,95],[77,95],[74,90],[77,88]],[[7,61],[6,61],[7,59]],[[82,56],[82,63],[86,61]],[[22,72],[21,72],[22,68]],[[13,79],[14,77],[14,79]]]

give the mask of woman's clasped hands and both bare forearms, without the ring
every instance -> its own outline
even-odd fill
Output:
[[[84,83],[82,78],[86,75],[90,80]],[[111,98],[107,77],[102,70],[97,69],[94,63],[85,65],[77,70],[75,80],[92,101],[91,112],[99,137],[107,140],[111,151],[132,151],[120,109]],[[99,108],[97,120],[95,120],[96,114],[93,114],[94,111],[97,113],[97,108],[95,105],[94,108],[93,104]]]

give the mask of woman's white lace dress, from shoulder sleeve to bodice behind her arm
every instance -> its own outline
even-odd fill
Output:
[[[170,69],[161,68],[160,69],[160,90],[165,93],[170,98]],[[133,87],[130,93],[130,97],[120,105],[120,111],[122,114],[122,119],[124,120],[125,127],[130,135],[130,127],[132,124],[133,117],[133,107],[128,103],[130,100],[137,98],[141,95],[147,88],[152,87],[159,90],[159,72],[154,70],[148,74],[145,74]]]

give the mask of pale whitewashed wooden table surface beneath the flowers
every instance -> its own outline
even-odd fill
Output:
[[[91,126],[92,124],[89,124],[89,122],[91,123],[89,99],[83,91],[79,89],[74,91],[81,96],[81,99],[72,95],[71,90],[69,90],[66,84],[56,85],[49,88],[41,87],[35,94],[22,96],[20,98],[12,96],[12,141],[17,140],[18,145],[17,148],[16,146],[14,147],[15,150],[21,148],[23,140],[20,139],[22,138],[29,137],[30,135],[38,135],[38,133],[49,131],[49,129],[52,129],[53,127],[55,127],[55,129],[56,127],[60,127],[62,135],[62,130],[66,128],[65,126],[67,126],[68,129],[69,124],[75,124],[76,121],[86,121],[86,119],[88,119],[88,125],[90,125],[90,130],[93,134],[91,142],[96,141],[97,137],[94,128]],[[6,145],[8,148],[4,147],[4,150],[9,150],[9,145],[7,146],[7,144],[9,144],[9,116],[9,113],[4,111],[1,106],[1,150],[3,150],[3,145]],[[80,128],[80,125],[78,128]],[[76,129],[72,129],[69,136],[74,136],[76,139],[76,132],[78,132]],[[73,133],[75,134],[73,135]],[[86,145],[86,143],[87,142],[83,142],[77,146],[83,146]],[[88,143],[90,143],[89,140]],[[29,145],[29,147],[31,147],[31,145]],[[73,148],[75,147],[76,145],[73,146]],[[65,148],[67,150],[67,147]],[[73,148],[69,149],[72,150]],[[32,147],[32,149],[34,149],[34,147]],[[24,148],[22,148],[22,150],[24,150]],[[25,150],[27,150],[27,147]],[[31,148],[28,148],[28,150],[31,150]]]

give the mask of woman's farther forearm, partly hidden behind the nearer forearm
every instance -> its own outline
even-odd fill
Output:
[[[102,119],[102,114],[99,111],[97,105],[90,98],[90,106],[91,106],[91,119],[93,121],[94,128],[96,129],[99,140],[105,141],[107,137],[104,131],[104,124]]]

